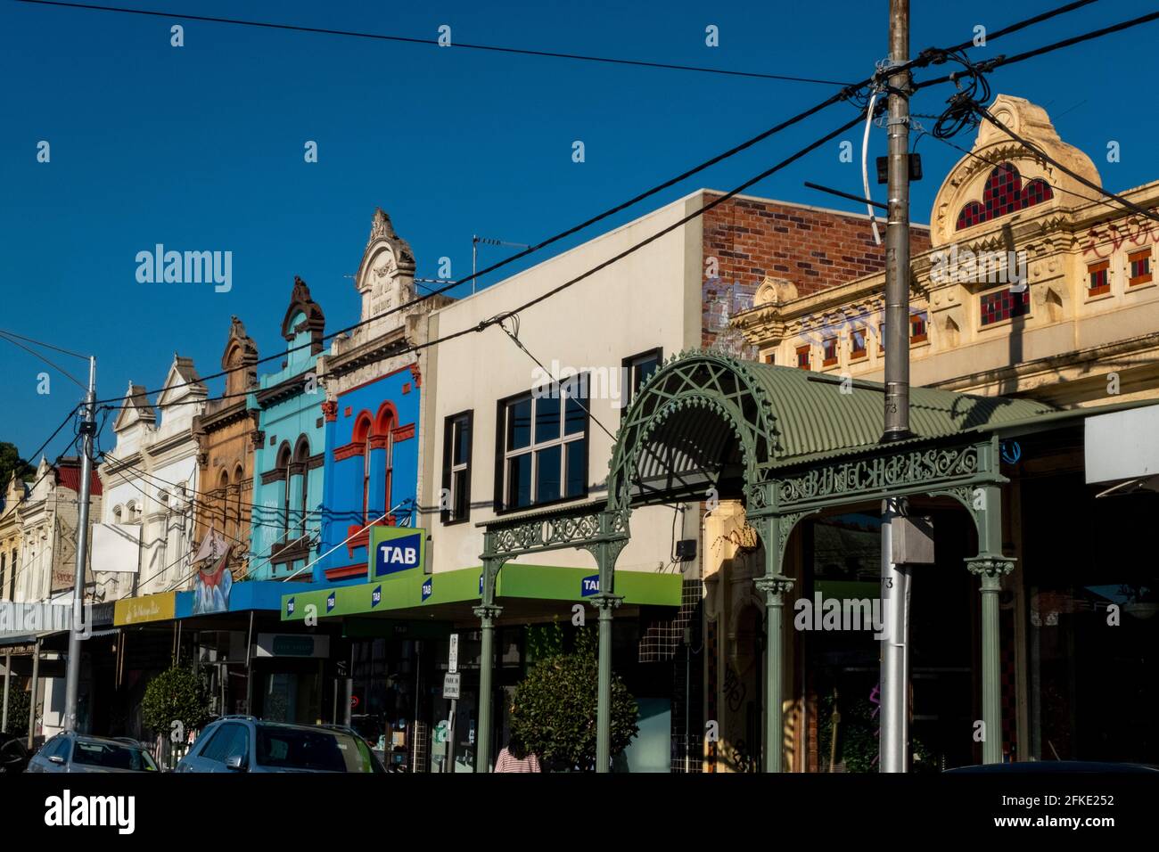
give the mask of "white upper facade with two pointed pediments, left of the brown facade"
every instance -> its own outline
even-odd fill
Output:
[[[130,384],[112,431],[116,446],[101,464],[103,524],[140,527],[134,565],[94,555],[96,602],[191,588],[194,511],[201,495],[194,417],[205,408],[205,385],[189,358],[174,356],[154,409]]]

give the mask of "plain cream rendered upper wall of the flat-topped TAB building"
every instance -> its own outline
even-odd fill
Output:
[[[429,338],[471,329],[496,314],[511,311],[607,260],[701,206],[692,194],[620,228],[603,234],[494,286],[433,312]],[[606,270],[596,272],[540,305],[519,314],[519,341],[555,378],[556,370],[589,372],[591,422],[588,427],[588,498],[606,495],[608,459],[620,423],[614,395],[622,391],[622,361],[662,349],[668,358],[701,342],[702,249],[699,219],[673,230]],[[513,328],[508,323],[509,328]],[[438,495],[442,487],[444,424],[447,417],[473,412],[471,511],[468,523],[443,524],[439,505],[423,507],[423,526],[432,533],[433,571],[479,566],[483,551],[480,522],[496,517],[496,410],[498,402],[542,385],[539,366],[500,328],[468,333],[429,350],[433,380],[424,400],[422,493]],[[626,401],[626,399],[624,400]],[[596,422],[598,421],[598,422]],[[600,427],[606,427],[608,432]],[[535,507],[532,507],[534,509]],[[699,538],[695,511],[680,514],[677,539]],[[632,542],[620,555],[618,570],[677,571],[671,565],[673,512],[671,507],[641,509],[632,516]],[[547,556],[513,562],[595,569],[583,551],[557,551]],[[699,570],[683,566],[686,578]]]

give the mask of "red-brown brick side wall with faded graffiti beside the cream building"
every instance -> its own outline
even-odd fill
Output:
[[[705,194],[706,201],[720,194]],[[885,221],[877,227],[885,238]],[[789,204],[732,198],[704,216],[704,256],[716,257],[719,279],[702,291],[702,345],[732,350],[727,316],[752,306],[765,276],[786,278],[799,296],[844,284],[885,265],[885,247],[873,241],[865,218]],[[911,230],[911,252],[930,248],[930,230]],[[756,357],[755,351],[736,351]]]

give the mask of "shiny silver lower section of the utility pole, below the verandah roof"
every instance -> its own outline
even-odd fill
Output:
[[[882,503],[881,758],[879,771],[907,772],[910,744],[910,567],[894,562],[898,500]]]

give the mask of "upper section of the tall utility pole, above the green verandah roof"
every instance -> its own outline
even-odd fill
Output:
[[[910,0],[889,0],[889,61],[910,56]],[[910,73],[889,78],[889,221],[885,228],[885,431],[910,434]]]

